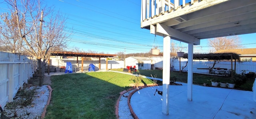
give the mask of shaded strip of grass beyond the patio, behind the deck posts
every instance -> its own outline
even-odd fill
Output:
[[[118,69],[111,69],[111,70],[115,70],[115,71],[120,71],[122,72],[122,68],[118,68]],[[133,74],[141,74],[144,76],[150,76],[150,74],[152,74],[152,76],[154,76],[155,74],[157,74],[156,78],[162,78],[162,70],[137,70],[137,72],[132,72]],[[184,82],[187,83],[188,81],[188,73],[187,72],[178,72],[178,71],[174,71],[174,72],[170,72],[170,77],[176,76],[177,78],[177,82]],[[151,77],[151,76],[150,76]],[[218,80],[220,82],[229,82],[231,80],[230,76],[217,76],[217,75],[209,75],[209,74],[193,74],[193,84],[196,85],[203,85],[204,83],[208,84],[209,86],[211,86],[211,82],[209,81],[212,78],[218,78]],[[236,89],[239,90],[248,90],[248,91],[252,91],[252,85],[253,85],[254,79],[250,79],[248,78],[246,83],[243,84],[240,87],[236,87]]]

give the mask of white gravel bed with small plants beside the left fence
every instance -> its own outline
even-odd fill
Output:
[[[46,85],[36,87],[32,86],[29,89],[33,88],[36,88],[36,94],[33,98],[32,105],[16,109],[18,117],[14,119],[40,119],[42,112],[44,111],[44,106],[48,101],[50,90],[47,88]],[[4,112],[4,115],[6,115],[7,117],[12,117],[14,115],[14,113],[6,109],[6,107],[4,108]]]

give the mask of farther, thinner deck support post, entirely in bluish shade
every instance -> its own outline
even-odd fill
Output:
[[[192,101],[193,43],[188,43],[188,101]]]

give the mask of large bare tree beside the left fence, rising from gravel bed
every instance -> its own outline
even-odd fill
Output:
[[[10,41],[10,46],[19,41],[22,49],[38,61],[39,85],[43,84],[44,69],[52,51],[66,48],[65,20],[51,7],[43,6],[40,0],[5,0],[9,12],[2,15],[0,24],[10,32],[0,29],[0,37]],[[12,24],[10,24],[12,23]],[[11,44],[12,43],[12,44]]]

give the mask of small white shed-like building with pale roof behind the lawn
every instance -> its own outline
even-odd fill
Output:
[[[148,57],[127,57],[125,59],[125,66],[136,66],[138,70],[151,69],[151,59]]]

